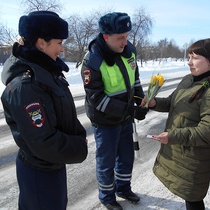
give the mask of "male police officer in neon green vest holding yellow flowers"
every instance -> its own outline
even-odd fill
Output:
[[[113,12],[99,20],[100,33],[89,44],[82,65],[86,113],[96,140],[99,199],[107,209],[122,209],[116,195],[133,203],[133,118],[145,119],[144,93],[139,79],[136,49],[127,40],[131,30],[126,13]],[[134,106],[136,103],[136,106]]]

